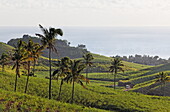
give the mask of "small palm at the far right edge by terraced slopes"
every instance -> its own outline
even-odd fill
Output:
[[[156,76],[156,82],[161,83],[161,88],[163,89],[163,96],[165,96],[165,85],[166,85],[166,82],[170,82],[170,77],[168,76],[167,73],[160,72]]]

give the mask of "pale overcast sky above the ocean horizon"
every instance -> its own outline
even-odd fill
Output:
[[[0,0],[0,26],[170,26],[170,0]]]

